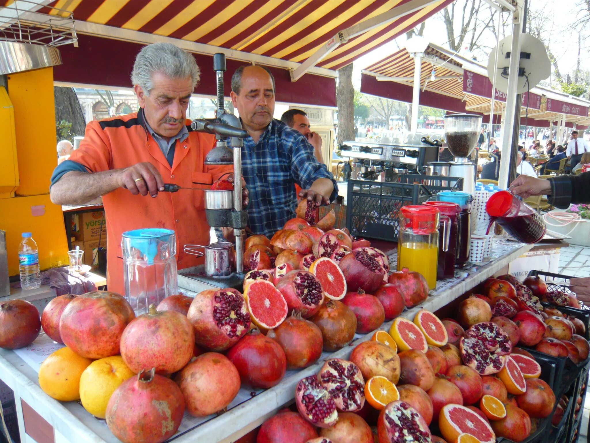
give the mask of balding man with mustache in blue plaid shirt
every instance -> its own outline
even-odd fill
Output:
[[[307,139],[273,119],[274,92],[273,74],[264,67],[241,66],[232,76],[231,100],[250,133],[242,148],[242,174],[250,191],[248,227],[269,238],[295,216],[296,183],[299,197],[316,206],[329,204],[338,193]]]

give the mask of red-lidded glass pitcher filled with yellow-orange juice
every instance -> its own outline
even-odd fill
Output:
[[[399,218],[398,271],[408,268],[421,273],[428,288],[437,285],[438,224],[440,212],[430,206],[404,206]],[[450,226],[447,222],[444,229]],[[444,232],[446,234],[446,232]]]

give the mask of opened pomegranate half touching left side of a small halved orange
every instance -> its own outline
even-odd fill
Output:
[[[365,405],[365,380],[352,361],[329,359],[317,378],[332,395],[339,411],[360,411]]]

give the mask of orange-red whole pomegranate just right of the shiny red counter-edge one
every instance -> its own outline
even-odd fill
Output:
[[[287,369],[310,366],[322,356],[322,331],[299,314],[287,317],[283,323],[268,331],[266,336],[283,348],[287,357]]]

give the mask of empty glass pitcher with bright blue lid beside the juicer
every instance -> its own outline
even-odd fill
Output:
[[[125,298],[136,315],[178,294],[176,234],[170,229],[136,229],[123,233]]]

